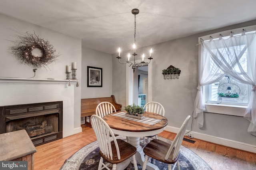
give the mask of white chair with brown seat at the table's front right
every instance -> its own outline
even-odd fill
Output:
[[[145,154],[145,160],[143,162],[142,170],[146,169],[148,157],[168,164],[168,170],[171,170],[171,164],[174,165],[172,170],[174,170],[176,165],[178,170],[180,170],[180,164],[178,161],[180,156],[180,146],[184,138],[190,117],[190,115],[186,117],[172,144],[168,144],[159,139],[153,139],[144,147],[143,152]]]

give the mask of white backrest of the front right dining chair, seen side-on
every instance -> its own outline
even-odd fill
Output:
[[[174,160],[177,156],[178,156],[178,153],[180,151],[180,145],[182,143],[182,140],[184,138],[184,135],[185,135],[185,132],[186,132],[186,127],[188,125],[188,121],[190,119],[190,115],[188,115],[188,117],[186,117],[185,121],[183,122],[183,124],[181,125],[180,127],[180,130],[178,131],[178,133],[176,134],[166,156],[165,156],[165,160],[168,159],[168,157],[170,156],[170,153],[173,151],[174,154],[173,154],[173,157],[172,157],[172,160]]]

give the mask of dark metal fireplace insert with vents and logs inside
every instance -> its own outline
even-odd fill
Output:
[[[62,101],[0,107],[0,133],[25,129],[35,146],[62,138]]]

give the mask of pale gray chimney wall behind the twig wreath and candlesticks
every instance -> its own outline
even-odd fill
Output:
[[[66,79],[66,65],[77,62],[77,79],[81,80],[81,40],[53,30],[43,28],[25,21],[17,20],[0,14],[0,77],[29,78],[34,76],[32,67],[18,63],[18,60],[9,52],[16,41],[16,36],[26,32],[36,33],[39,38],[48,40],[60,56],[49,64],[49,69],[36,70],[34,79]],[[80,83],[81,85],[81,83]],[[4,89],[1,89],[4,90]],[[81,86],[74,89],[74,125],[80,127],[81,114]],[[1,105],[1,103],[0,103]]]

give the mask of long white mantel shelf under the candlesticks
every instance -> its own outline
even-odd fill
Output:
[[[12,77],[0,77],[0,83],[36,83],[36,84],[67,84],[69,80],[58,79],[26,79],[26,78],[12,78]],[[70,80],[70,84],[76,84],[78,80]]]

